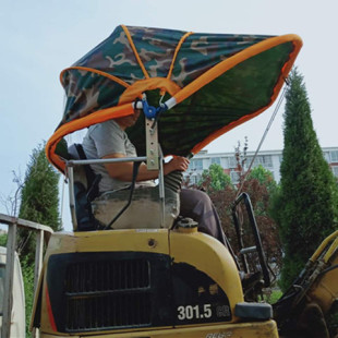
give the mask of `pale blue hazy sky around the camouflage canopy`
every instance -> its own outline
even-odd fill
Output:
[[[61,120],[60,72],[119,24],[196,33],[298,34],[304,46],[295,65],[304,76],[314,129],[322,147],[337,146],[337,0],[1,0],[0,213],[7,213],[3,201],[16,190],[13,171],[24,179],[32,150]],[[233,152],[248,136],[249,150],[254,152],[274,107],[206,149]],[[283,106],[262,149],[282,149],[282,111]]]

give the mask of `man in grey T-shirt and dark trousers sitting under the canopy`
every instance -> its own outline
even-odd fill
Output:
[[[140,110],[135,110],[134,114],[89,126],[83,140],[86,157],[88,159],[136,157],[136,149],[130,142],[125,129],[134,125],[138,117]],[[125,189],[131,184],[133,162],[90,166],[95,173],[101,176],[99,182],[100,193]],[[176,170],[185,171],[188,167],[189,159],[177,156],[164,165],[164,174],[166,176]],[[155,185],[154,180],[157,178],[158,170],[147,170],[147,166],[141,164],[136,177],[137,184]],[[207,194],[200,190],[182,189],[180,201],[181,216],[193,218],[198,224],[198,231],[215,237],[224,244],[226,243],[219,217]]]

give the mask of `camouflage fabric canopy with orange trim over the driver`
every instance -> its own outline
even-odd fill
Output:
[[[118,26],[62,71],[65,109],[47,144],[47,156],[63,169],[56,147],[64,135],[133,113],[133,102],[143,93],[155,107],[170,101],[171,109],[158,122],[164,154],[196,154],[274,102],[301,47],[297,35]],[[140,155],[145,154],[142,120],[126,131]]]

